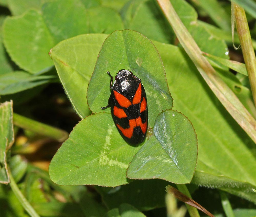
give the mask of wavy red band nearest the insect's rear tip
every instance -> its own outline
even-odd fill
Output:
[[[145,123],[142,123],[141,117],[138,117],[136,119],[130,119],[129,120],[129,128],[122,128],[119,124],[116,124],[116,126],[118,127],[119,130],[121,130],[121,132],[124,134],[125,137],[131,139],[132,138],[132,134],[133,134],[133,129],[135,127],[140,127],[143,134],[146,133],[147,131],[147,121]]]

